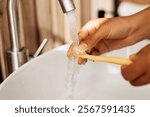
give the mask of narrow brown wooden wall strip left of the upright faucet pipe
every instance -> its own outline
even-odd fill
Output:
[[[10,48],[6,5],[6,0],[0,0],[0,65],[3,74],[3,79],[7,77],[6,52]]]

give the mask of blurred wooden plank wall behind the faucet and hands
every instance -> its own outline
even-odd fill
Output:
[[[8,23],[8,0],[0,0],[0,82],[8,75],[6,53],[11,49]],[[120,15],[118,8],[122,3],[132,2],[143,9],[150,0],[74,0],[78,30],[89,20]],[[66,16],[62,13],[58,0],[20,0],[19,31],[21,43],[33,56],[42,40],[48,38],[48,43],[42,50],[45,53],[55,47],[72,42]],[[142,7],[141,7],[142,6]],[[120,12],[129,11],[122,7]],[[131,5],[131,11],[132,9]],[[128,13],[126,14],[128,15]]]

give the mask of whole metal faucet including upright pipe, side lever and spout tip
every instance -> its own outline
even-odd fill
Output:
[[[11,50],[7,52],[8,74],[16,71],[20,66],[22,66],[29,60],[28,49],[25,48],[23,45],[21,45],[21,39],[19,35],[19,25],[18,25],[19,1],[20,0],[8,0],[8,17],[9,17],[8,21],[11,39]],[[59,3],[64,13],[75,10],[73,0],[59,0]],[[42,46],[40,46],[35,56],[38,55],[40,50],[44,47],[44,44],[42,43]]]

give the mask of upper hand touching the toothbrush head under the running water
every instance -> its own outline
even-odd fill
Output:
[[[88,54],[99,55],[133,45],[150,37],[150,8],[128,17],[96,19],[88,22],[79,32],[79,47]],[[144,21],[144,22],[143,22]],[[74,45],[68,50],[73,54]],[[79,59],[78,63],[86,60]]]

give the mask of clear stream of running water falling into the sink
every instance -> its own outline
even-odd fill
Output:
[[[67,13],[67,18],[70,26],[70,33],[73,38],[73,43],[78,47],[78,31],[75,11]],[[80,66],[77,64],[77,59],[71,57],[68,61],[67,74],[66,74],[66,88],[67,88],[67,99],[73,99],[75,84],[79,74]]]

